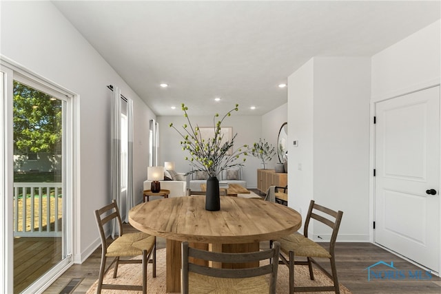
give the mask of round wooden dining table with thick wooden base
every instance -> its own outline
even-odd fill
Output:
[[[139,231],[167,239],[166,291],[180,292],[182,241],[209,244],[213,251],[258,251],[260,241],[300,229],[302,218],[294,209],[260,199],[223,196],[220,211],[207,211],[205,196],[185,196],[136,205],[129,222]]]

